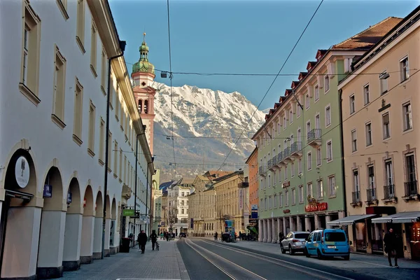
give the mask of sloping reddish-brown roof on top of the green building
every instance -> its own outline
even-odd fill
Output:
[[[351,36],[350,38],[333,45],[333,50],[351,49],[351,50],[369,50],[372,46],[381,40],[395,25],[400,23],[402,18],[389,17],[376,25]]]

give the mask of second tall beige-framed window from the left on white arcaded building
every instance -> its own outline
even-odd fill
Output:
[[[61,129],[64,129],[64,99],[65,99],[65,83],[66,83],[66,59],[62,56],[55,45],[54,59],[54,85],[53,85],[53,108],[52,120]]]

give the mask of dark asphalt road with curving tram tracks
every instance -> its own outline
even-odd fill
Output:
[[[274,255],[268,252],[238,248],[232,244],[188,238],[177,243],[190,279],[387,279],[386,275],[400,274],[407,279],[419,279],[417,269],[370,267],[357,260],[316,260],[304,255]],[[337,265],[331,265],[332,262]],[[354,262],[354,263],[353,263]],[[379,271],[380,270],[380,271]],[[414,277],[414,278],[412,278]],[[398,276],[397,276],[398,278]],[[395,278],[393,278],[395,279]]]

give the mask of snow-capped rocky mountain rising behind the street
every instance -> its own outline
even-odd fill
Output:
[[[169,162],[174,162],[171,88],[162,83],[154,83],[153,87],[157,89],[155,165],[163,173],[165,169],[172,172],[174,165],[169,166]],[[204,170],[218,169],[246,127],[222,170],[243,167],[245,158],[255,147],[250,137],[264,123],[265,114],[255,109],[256,106],[239,92],[226,93],[190,85],[172,87],[176,173],[193,176]]]

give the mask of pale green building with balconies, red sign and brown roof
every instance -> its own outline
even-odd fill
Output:
[[[329,228],[346,216],[339,80],[353,59],[380,37],[387,20],[318,50],[253,136],[258,146],[259,241],[279,241],[279,232]]]

